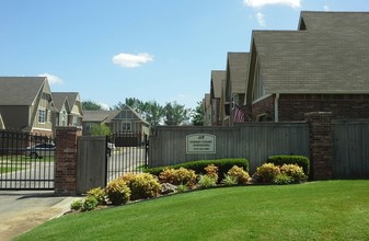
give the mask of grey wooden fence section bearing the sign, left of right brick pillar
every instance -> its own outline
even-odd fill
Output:
[[[160,126],[150,137],[149,144],[150,168],[194,160],[246,158],[250,160],[250,171],[254,172],[269,156],[309,157],[309,124],[242,123],[233,127]]]

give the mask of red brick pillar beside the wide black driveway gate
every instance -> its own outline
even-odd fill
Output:
[[[56,195],[77,193],[77,139],[82,136],[78,127],[56,127],[55,184]]]

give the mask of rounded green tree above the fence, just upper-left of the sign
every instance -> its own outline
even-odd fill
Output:
[[[166,103],[164,106],[164,124],[168,126],[180,126],[189,119],[191,110],[176,102]]]

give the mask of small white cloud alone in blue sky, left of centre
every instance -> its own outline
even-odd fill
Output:
[[[124,68],[136,68],[152,60],[153,56],[148,53],[137,55],[122,53],[113,57],[113,62]]]

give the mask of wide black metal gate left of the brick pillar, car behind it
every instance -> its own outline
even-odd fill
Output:
[[[47,136],[0,131],[0,190],[53,190],[54,140]]]

